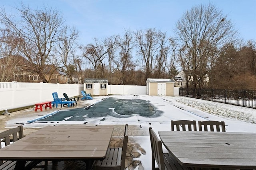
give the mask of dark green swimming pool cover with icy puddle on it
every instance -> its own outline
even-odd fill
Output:
[[[60,110],[38,119],[34,122],[58,122],[58,121],[105,121],[107,117],[128,118],[138,115],[139,117],[159,117],[163,113],[149,100],[142,98],[123,99],[110,96],[87,107]],[[138,119],[138,121],[140,121]]]

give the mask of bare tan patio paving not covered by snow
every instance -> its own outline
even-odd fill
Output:
[[[43,109],[43,111],[34,111],[34,108],[30,109],[24,109],[21,111],[16,111],[13,113],[10,113],[10,115],[0,115],[0,132],[5,131],[9,128],[18,126],[22,123],[19,123],[17,121],[18,119],[26,119],[29,120],[32,117],[42,117],[43,115],[47,115],[53,111],[58,111],[58,110],[67,110],[67,109],[74,109],[74,108],[80,108],[80,107],[86,107],[89,104],[86,101],[78,101],[78,105],[75,105],[74,107],[60,107],[58,108],[53,107],[52,109]],[[40,125],[41,126],[41,125]],[[43,126],[47,126],[43,125]],[[61,125],[59,125],[61,126]],[[72,126],[72,124],[70,124]],[[92,126],[90,123],[85,124],[84,126]],[[37,131],[38,127],[26,127],[24,125],[24,135],[29,135],[35,131]],[[114,125],[114,131],[112,134],[112,139],[110,141],[110,147],[121,147],[122,146],[122,139],[124,135],[124,125]],[[148,129],[147,128],[140,128],[138,125],[129,125],[128,128],[128,135],[129,136],[148,136]],[[148,139],[149,140],[149,139]],[[140,152],[138,152],[140,150]],[[137,166],[139,166],[140,170],[143,170],[144,168],[142,167],[140,161],[138,160],[133,160],[134,158],[139,158],[141,154],[146,154],[146,151],[138,145],[138,143],[134,142],[133,139],[130,137],[128,139],[128,149],[127,149],[127,154],[126,154],[126,166],[128,170],[134,170]],[[48,162],[48,169],[49,170],[62,170],[62,169],[74,169],[74,170],[79,170],[83,169],[85,166],[84,162],[70,162],[70,161],[61,161],[58,162],[57,166],[52,166],[52,162]],[[137,167],[138,168],[138,167]],[[36,169],[41,169],[41,168],[36,168]]]

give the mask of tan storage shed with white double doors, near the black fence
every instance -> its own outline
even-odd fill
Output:
[[[147,94],[150,96],[174,96],[175,81],[167,78],[148,78]]]

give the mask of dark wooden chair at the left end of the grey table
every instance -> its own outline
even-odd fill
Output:
[[[155,170],[155,162],[159,170],[189,170],[187,167],[180,166],[172,154],[163,153],[162,142],[158,139],[152,127],[149,127],[150,143],[152,150],[152,170]]]

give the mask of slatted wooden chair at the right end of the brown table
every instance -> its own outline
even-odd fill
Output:
[[[124,128],[124,139],[122,147],[109,148],[104,160],[95,163],[95,170],[124,170],[125,157],[128,143],[128,124]]]

